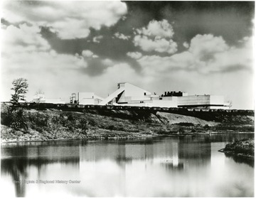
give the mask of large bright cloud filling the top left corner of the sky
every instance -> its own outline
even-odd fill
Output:
[[[90,28],[110,27],[127,14],[120,1],[6,1],[2,10],[11,23],[48,26],[63,39],[85,38]]]

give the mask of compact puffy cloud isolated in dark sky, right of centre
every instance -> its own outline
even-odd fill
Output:
[[[171,24],[165,19],[162,21],[150,21],[145,28],[137,29],[137,35],[134,36],[134,45],[139,46],[144,51],[156,51],[159,53],[173,54],[177,51],[177,43],[171,38],[174,36],[174,30]]]

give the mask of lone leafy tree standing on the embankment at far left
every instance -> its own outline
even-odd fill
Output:
[[[11,102],[18,102],[18,100],[25,100],[25,95],[28,92],[28,80],[24,78],[18,78],[12,82],[14,87],[14,94],[11,95]]]

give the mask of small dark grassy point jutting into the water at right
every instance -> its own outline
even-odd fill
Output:
[[[220,152],[230,156],[240,158],[254,159],[255,158],[255,141],[254,139],[245,139],[227,144]]]

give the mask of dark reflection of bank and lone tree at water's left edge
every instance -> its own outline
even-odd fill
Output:
[[[77,146],[52,144],[16,143],[1,147],[1,175],[11,176],[16,197],[26,196],[27,184],[22,182],[31,180],[28,179],[28,172],[32,166],[37,168],[37,179],[41,179],[42,168],[52,163],[69,164],[79,170],[80,157]]]

